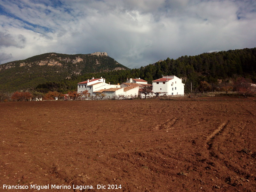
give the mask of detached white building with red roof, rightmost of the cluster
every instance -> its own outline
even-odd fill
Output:
[[[163,76],[160,79],[152,81],[153,92],[159,96],[184,95],[184,85],[182,80],[176,76]]]

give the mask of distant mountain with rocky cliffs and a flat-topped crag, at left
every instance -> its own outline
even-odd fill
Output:
[[[12,92],[77,75],[126,69],[106,52],[75,55],[44,53],[0,65],[0,90]]]

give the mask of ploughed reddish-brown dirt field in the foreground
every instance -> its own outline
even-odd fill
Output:
[[[0,191],[255,192],[254,100],[0,103]]]

